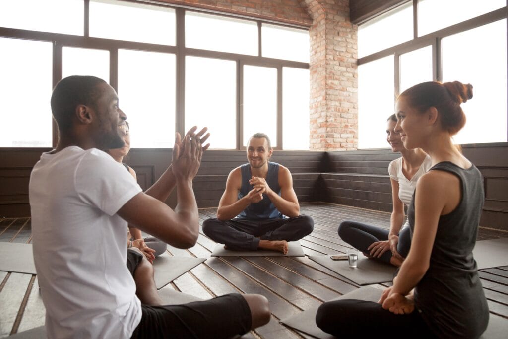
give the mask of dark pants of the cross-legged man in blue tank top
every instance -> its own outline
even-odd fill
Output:
[[[210,239],[224,243],[232,250],[257,250],[260,240],[257,237],[262,240],[300,240],[313,228],[314,221],[304,214],[287,219],[220,221],[213,218],[203,222],[203,232]]]

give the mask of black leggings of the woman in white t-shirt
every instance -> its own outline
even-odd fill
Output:
[[[369,253],[367,248],[376,241],[388,240],[390,231],[380,227],[362,224],[354,221],[344,221],[340,223],[338,229],[339,236],[342,240],[352,245],[355,249]],[[411,246],[411,235],[409,227],[403,228],[399,233],[399,243],[397,244],[397,252],[405,258],[409,253]],[[375,258],[386,263],[390,263],[392,252],[386,251],[380,258]]]

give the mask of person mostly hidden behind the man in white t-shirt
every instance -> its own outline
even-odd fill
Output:
[[[120,133],[122,134],[122,139],[124,142],[123,147],[109,149],[108,153],[111,157],[113,157],[115,161],[122,164],[125,167],[125,169],[132,174],[134,179],[137,180],[136,171],[132,167],[123,162],[125,157],[129,154],[129,151],[131,150],[131,128],[128,121],[125,120],[123,121],[122,125],[120,125]],[[143,254],[150,262],[153,262],[153,259],[155,259],[155,257],[158,257],[164,252],[166,252],[167,245],[164,241],[159,240],[152,236],[143,238],[141,231],[134,226],[131,225],[129,226],[127,238],[129,243],[127,247],[132,248],[134,246],[138,248],[139,250],[141,250],[141,252],[143,252]],[[149,251],[147,248],[153,251]]]

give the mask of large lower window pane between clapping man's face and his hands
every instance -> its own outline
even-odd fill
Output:
[[[174,54],[118,51],[118,104],[131,126],[131,147],[173,147],[175,83]]]

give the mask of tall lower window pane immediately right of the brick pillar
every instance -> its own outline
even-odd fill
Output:
[[[393,56],[358,66],[358,148],[382,148],[386,120],[395,113]]]

